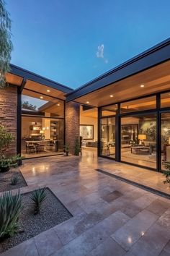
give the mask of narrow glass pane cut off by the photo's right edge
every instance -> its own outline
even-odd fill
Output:
[[[170,162],[170,113],[161,114],[161,168]]]

